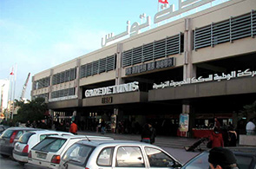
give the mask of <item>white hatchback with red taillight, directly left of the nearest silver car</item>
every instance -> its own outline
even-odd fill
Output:
[[[63,153],[79,140],[113,140],[109,137],[89,135],[49,136],[32,147],[29,153],[29,165],[36,167],[58,168]]]

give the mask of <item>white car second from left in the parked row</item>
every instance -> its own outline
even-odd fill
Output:
[[[30,149],[35,146],[38,142],[51,135],[73,135],[73,133],[56,132],[50,130],[39,130],[23,133],[20,139],[16,142],[12,156],[21,165],[28,162],[28,155]]]

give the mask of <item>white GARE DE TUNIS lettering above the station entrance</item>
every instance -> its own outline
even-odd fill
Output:
[[[107,94],[120,94],[126,92],[134,92],[137,90],[139,90],[139,82],[134,81],[110,87],[88,89],[85,91],[85,97],[101,96]]]

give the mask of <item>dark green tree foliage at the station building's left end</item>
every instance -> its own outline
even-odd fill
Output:
[[[27,122],[27,120],[42,120],[47,111],[47,105],[42,97],[28,101],[28,103],[16,100],[15,104],[16,107],[19,107],[15,121]]]

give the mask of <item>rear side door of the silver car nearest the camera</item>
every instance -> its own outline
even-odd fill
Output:
[[[113,160],[113,169],[147,168],[140,146],[117,146]]]

